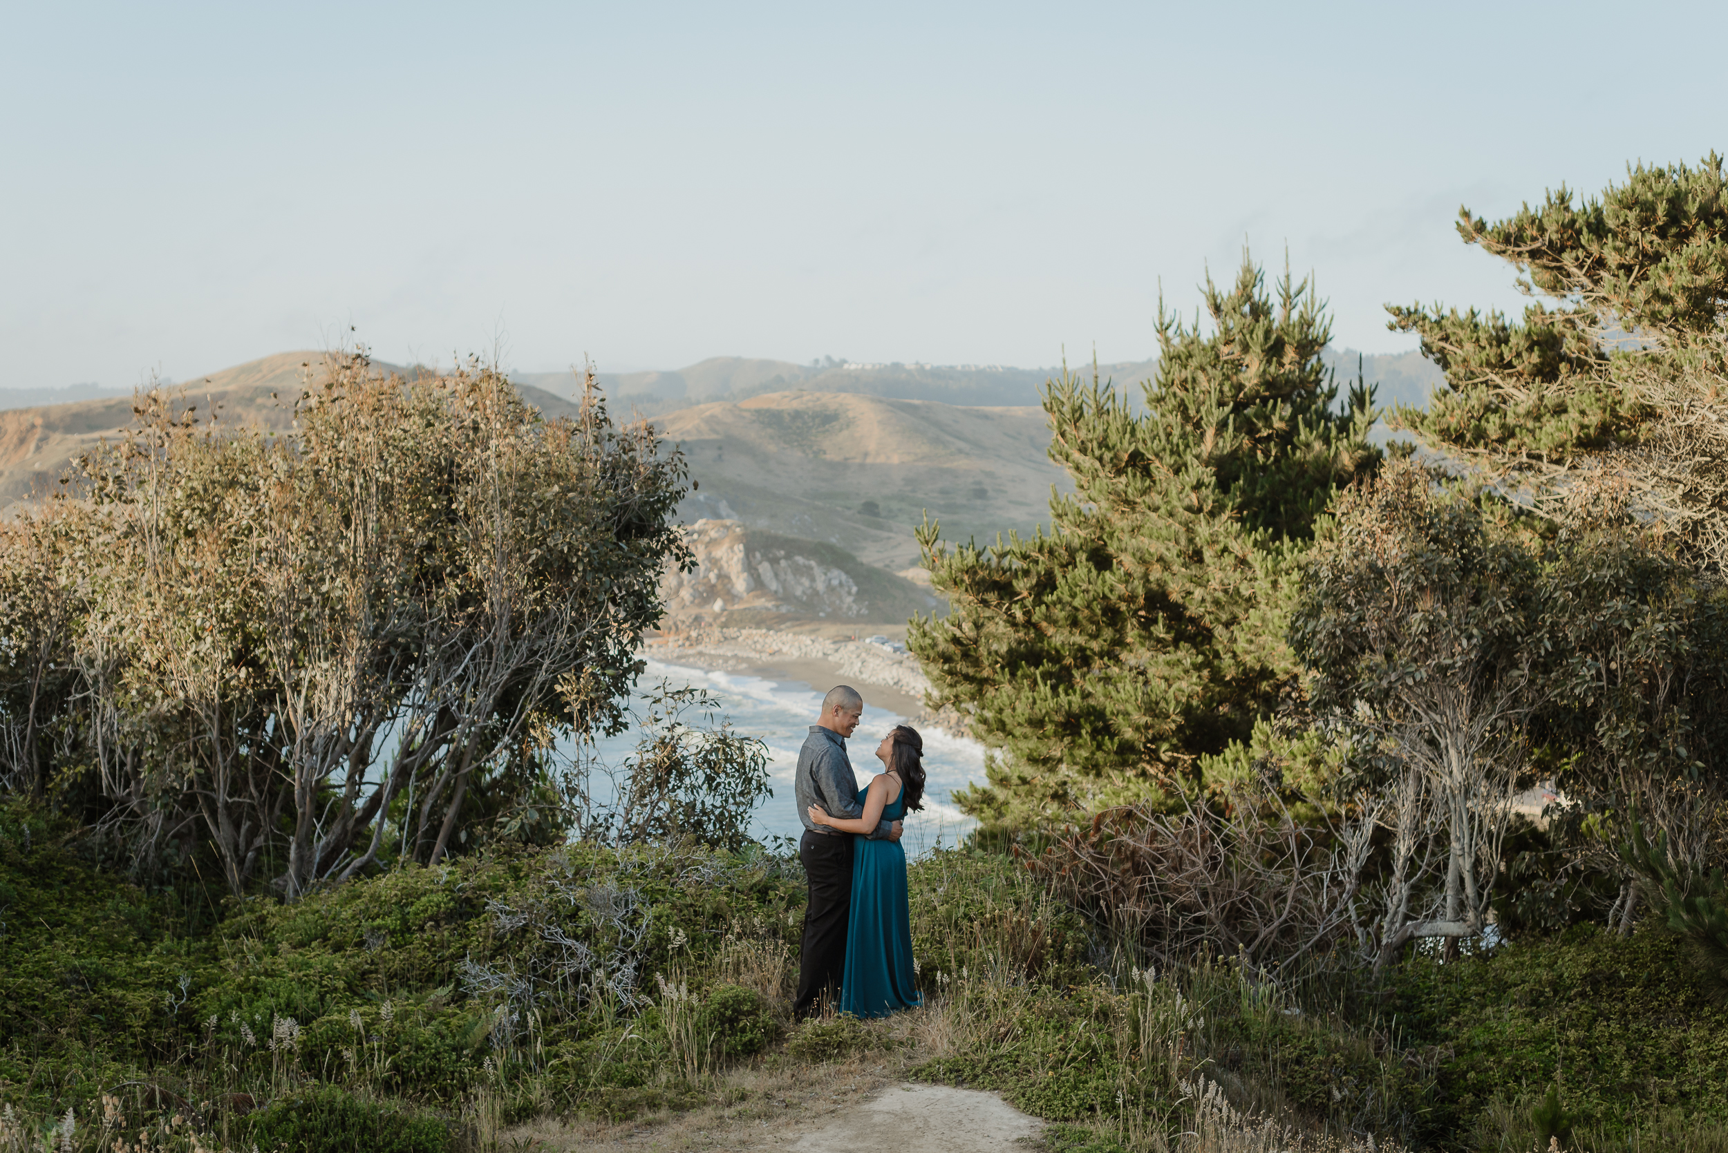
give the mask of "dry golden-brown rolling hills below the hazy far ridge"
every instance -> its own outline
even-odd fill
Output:
[[[323,356],[282,352],[176,385],[200,418],[287,430],[302,380]],[[760,361],[703,378],[703,388],[774,380]],[[389,371],[396,366],[378,364]],[[738,369],[738,371],[734,371]],[[567,399],[529,383],[524,397],[546,416]],[[0,506],[52,485],[73,459],[131,423],[131,397],[0,411]],[[1051,485],[1066,478],[1044,456],[1037,407],[956,407],[857,392],[771,392],[683,407],[655,418],[689,456],[698,487],[681,514],[738,520],[752,530],[838,545],[892,571],[918,563],[912,528],[928,509],[943,533],[994,535],[1044,516]]]

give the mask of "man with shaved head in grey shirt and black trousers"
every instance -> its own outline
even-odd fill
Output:
[[[847,737],[859,727],[864,697],[857,689],[836,685],[823,697],[823,715],[810,725],[810,735],[798,749],[798,775],[793,792],[804,837],[798,860],[810,885],[804,906],[804,948],[798,956],[798,998],[793,1017],[804,1018],[821,1008],[821,999],[838,999],[847,965],[847,920],[852,915],[852,835],[838,829],[810,823],[810,806],[821,804],[833,816],[857,820],[864,806],[857,801],[857,777],[847,756]],[[871,841],[899,841],[900,822],[876,825]]]

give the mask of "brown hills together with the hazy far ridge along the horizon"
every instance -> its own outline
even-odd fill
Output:
[[[1339,385],[1358,359],[1329,350]],[[199,418],[287,430],[292,400],[320,352],[282,352],[175,385]],[[404,371],[375,362],[382,371]],[[1153,361],[1099,364],[1097,373],[1139,400]],[[1422,404],[1439,380],[1415,352],[1362,357],[1381,406]],[[1073,366],[1090,376],[1092,366]],[[603,375],[613,413],[651,416],[683,445],[693,488],[686,523],[738,521],[752,532],[836,545],[900,571],[919,564],[912,530],[930,514],[943,537],[1030,532],[1049,516],[1052,488],[1073,482],[1047,456],[1039,406],[1047,369],[994,366],[857,364],[712,357],[669,373]],[[524,399],[546,416],[570,416],[574,373],[518,373]],[[275,394],[275,397],[271,395]],[[0,411],[0,506],[45,492],[81,452],[131,423],[131,395]]]

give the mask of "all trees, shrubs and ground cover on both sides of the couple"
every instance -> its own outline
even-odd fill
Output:
[[[0,1151],[745,1148],[861,1077],[1052,1153],[1728,1148],[1723,193],[1465,214],[1555,302],[1393,311],[1420,452],[1246,261],[1144,406],[1052,381],[1049,532],[919,535],[992,759],[883,1022],[791,1018],[760,744],[631,713],[651,426],[363,356],[276,437],[142,395],[0,530]]]

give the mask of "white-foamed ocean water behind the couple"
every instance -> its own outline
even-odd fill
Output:
[[[741,673],[710,673],[650,659],[638,682],[638,706],[662,680],[669,687],[705,689],[719,699],[721,708],[715,720],[724,715],[738,734],[762,739],[769,753],[774,796],[757,808],[752,818],[752,834],[766,842],[776,837],[797,839],[804,832],[804,825],[798,822],[791,778],[798,768],[798,747],[821,713],[823,694],[804,684],[764,680]],[[874,756],[876,744],[888,735],[890,728],[907,721],[897,713],[871,706],[869,687],[862,692],[866,697],[864,718],[847,740],[847,753],[852,756],[861,789],[881,770],[881,761]],[[698,718],[691,713],[686,715],[686,720]],[[971,832],[976,822],[954,806],[950,794],[971,782],[983,782],[983,746],[935,728],[919,730],[919,734],[924,737],[924,808],[907,818],[900,837],[900,844],[911,856],[921,856],[938,844],[952,847]],[[598,740],[594,749],[605,763],[620,765],[634,751],[636,739],[638,734],[632,728],[617,737]]]

